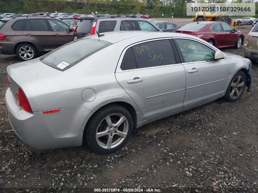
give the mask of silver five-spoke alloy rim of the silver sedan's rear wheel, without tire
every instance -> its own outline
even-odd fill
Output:
[[[96,141],[102,148],[114,148],[125,140],[128,130],[128,120],[124,115],[120,113],[110,114],[97,127]]]

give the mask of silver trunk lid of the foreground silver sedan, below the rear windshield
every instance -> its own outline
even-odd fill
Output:
[[[25,82],[62,73],[51,66],[42,63],[39,59],[13,64],[7,67],[10,89],[15,96],[19,86]]]

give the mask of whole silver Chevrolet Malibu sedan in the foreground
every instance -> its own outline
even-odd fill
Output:
[[[200,38],[128,31],[92,35],[7,67],[11,127],[33,148],[111,153],[133,129],[252,84],[249,59]]]

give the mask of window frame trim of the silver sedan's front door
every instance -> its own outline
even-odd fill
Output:
[[[202,42],[202,41],[199,41],[199,40],[196,40],[196,39],[192,39],[192,38],[174,37],[174,38],[172,38],[172,39],[173,39],[173,40],[174,40],[174,39],[186,39],[186,40],[191,40],[191,41],[197,41],[197,42],[199,42],[199,43],[201,43],[201,44],[207,46],[208,48],[212,49],[215,53],[216,53],[217,50],[219,50],[219,49],[216,50],[216,49],[212,48],[210,45],[208,45],[208,44],[209,44],[208,42],[207,42],[207,44],[206,44],[206,43],[204,43],[204,42]],[[182,52],[181,52],[181,49],[179,48],[179,45],[178,45],[177,41],[174,41],[174,42],[175,42],[177,51],[178,51],[178,53],[179,53],[180,60],[181,60],[181,62],[182,62],[183,65],[184,65],[184,64],[193,64],[193,63],[203,63],[203,62],[215,61],[215,60],[213,59],[213,60],[203,60],[203,61],[196,61],[196,62],[185,62],[185,61],[184,61],[183,54],[182,54]],[[216,61],[220,61],[220,60],[226,60],[226,59],[225,59],[225,57],[224,57],[224,58],[219,59],[219,60],[216,60]]]

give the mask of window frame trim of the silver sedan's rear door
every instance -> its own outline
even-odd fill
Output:
[[[147,67],[147,68],[136,68],[136,69],[130,69],[130,70],[122,70],[122,69],[121,69],[121,65],[122,65],[123,58],[124,58],[124,56],[125,56],[125,52],[126,52],[129,48],[131,48],[131,47],[133,47],[133,46],[135,46],[135,45],[142,44],[142,43],[146,43],[146,42],[150,42],[150,41],[158,41],[158,40],[169,40],[169,41],[170,41],[170,40],[172,40],[172,37],[169,37],[169,38],[154,38],[154,39],[139,41],[139,42],[136,42],[136,43],[134,43],[134,44],[131,44],[131,45],[126,46],[126,47],[123,49],[123,51],[122,51],[122,53],[121,53],[121,55],[120,55],[120,58],[119,58],[119,60],[118,60],[118,64],[117,64],[117,66],[116,66],[115,73],[128,72],[128,71],[134,71],[134,70],[145,70],[145,69],[151,69],[151,68],[162,68],[162,67],[167,67],[167,66],[178,66],[178,65],[182,65],[182,63],[177,63],[177,61],[176,61],[176,64],[168,64],[168,65],[163,65],[163,66],[152,66],[152,67]],[[170,43],[171,43],[171,42],[170,42]],[[172,46],[172,45],[171,45],[171,47],[172,47],[172,49],[173,49],[173,46]],[[177,52],[178,52],[178,51],[177,51]],[[177,52],[175,53],[175,51],[174,51],[174,55],[178,54]],[[175,58],[176,58],[176,56],[175,56]],[[137,60],[136,60],[136,62],[137,62]],[[179,61],[179,62],[180,62],[180,61]],[[137,64],[137,66],[138,66],[138,64]]]

